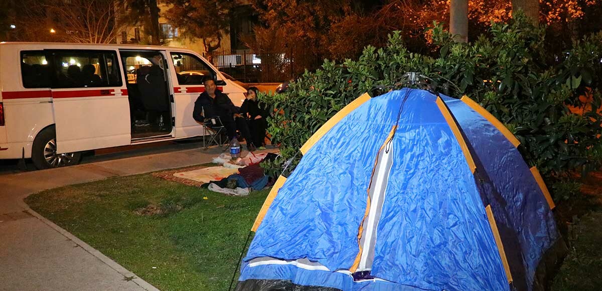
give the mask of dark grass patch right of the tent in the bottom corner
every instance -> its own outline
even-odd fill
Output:
[[[602,287],[602,212],[592,212],[581,218],[573,228],[571,250],[552,290],[594,291]]]

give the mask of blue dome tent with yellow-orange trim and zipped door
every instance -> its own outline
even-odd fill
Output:
[[[364,94],[279,177],[237,289],[535,289],[562,239],[519,144],[466,96]]]

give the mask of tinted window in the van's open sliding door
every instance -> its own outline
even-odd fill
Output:
[[[114,51],[55,51],[53,88],[121,87]]]

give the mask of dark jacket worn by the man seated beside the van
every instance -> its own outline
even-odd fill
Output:
[[[204,121],[202,115],[203,109],[205,110],[204,118],[216,116],[220,118],[232,118],[232,115],[238,112],[230,98],[217,89],[215,99],[209,97],[209,94],[206,92],[203,92],[194,102],[192,117],[200,123]]]

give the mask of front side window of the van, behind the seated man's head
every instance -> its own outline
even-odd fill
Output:
[[[202,85],[206,79],[215,79],[216,73],[193,54],[172,52],[179,85]]]

